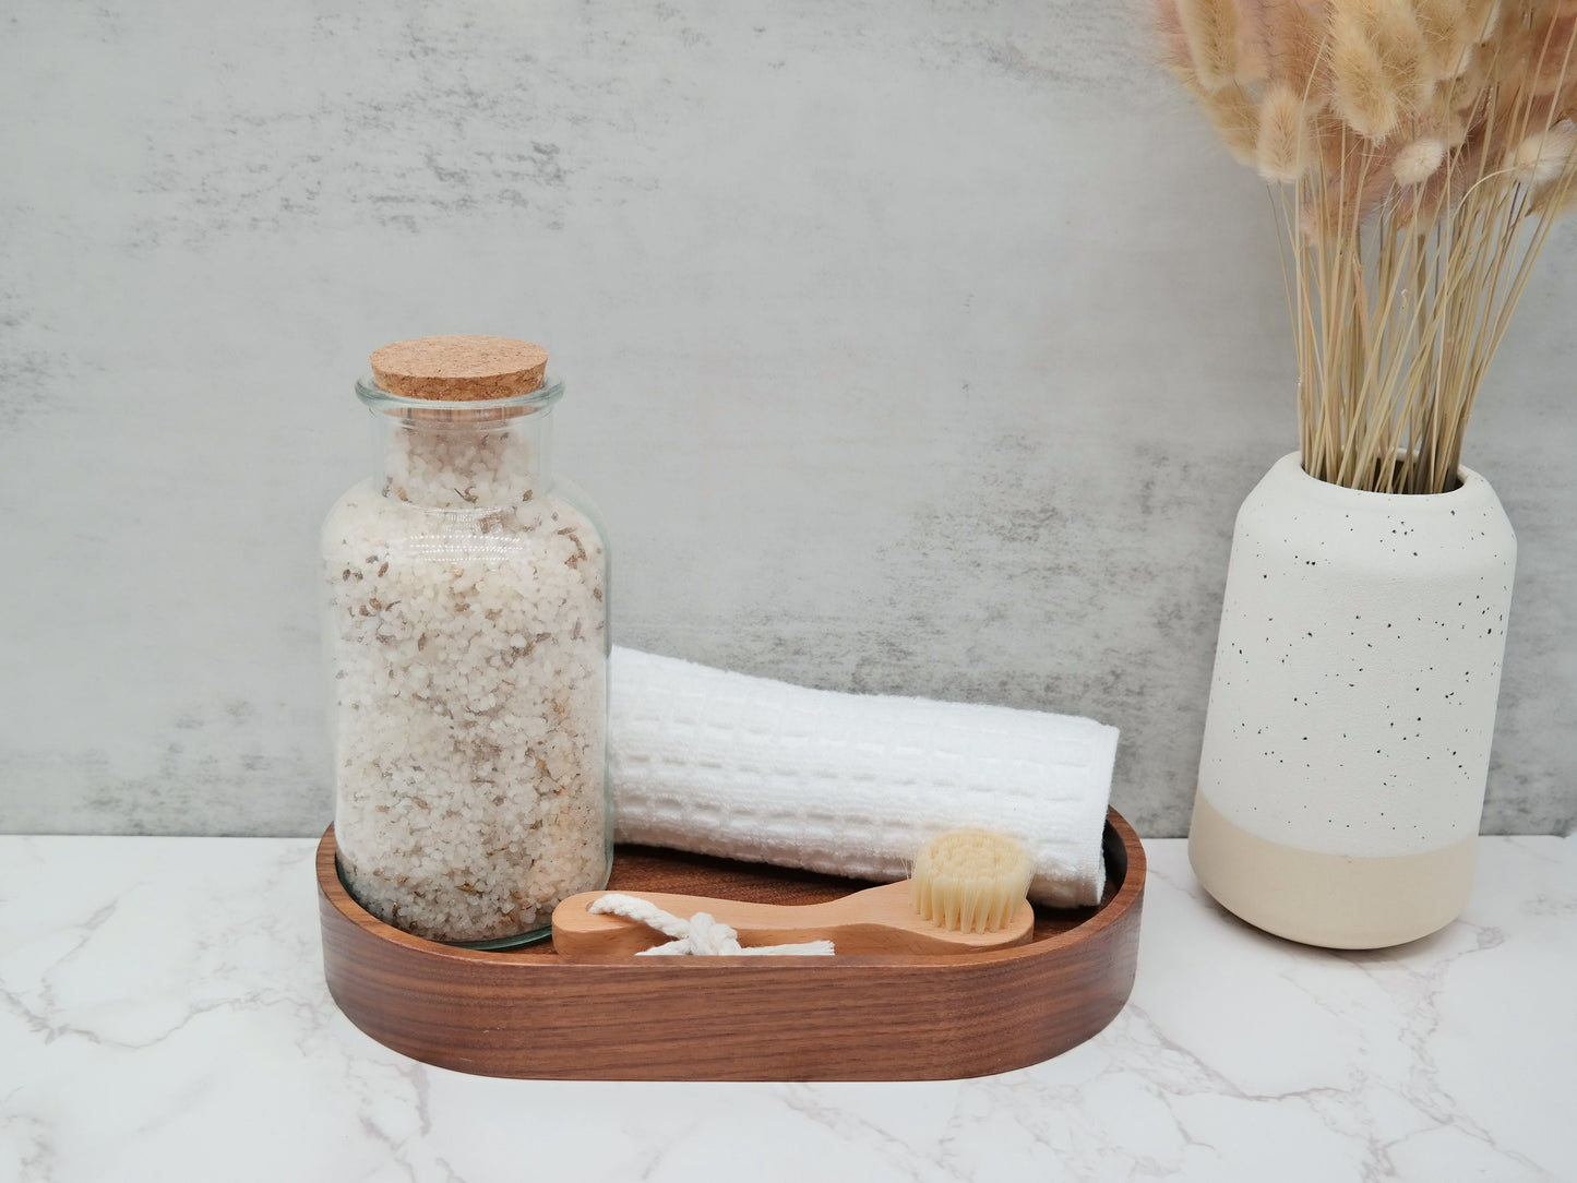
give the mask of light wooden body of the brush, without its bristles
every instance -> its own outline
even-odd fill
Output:
[[[979,953],[1023,945],[1035,932],[1035,909],[1019,905],[997,932],[951,932],[915,915],[908,880],[885,883],[825,904],[749,904],[740,899],[640,891],[681,920],[706,912],[740,934],[740,943],[798,945],[831,940],[837,953]],[[587,912],[602,891],[571,896],[554,910],[554,950],[566,961],[626,961],[669,937],[626,916]]]

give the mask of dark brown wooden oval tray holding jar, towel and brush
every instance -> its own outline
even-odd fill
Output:
[[[1028,945],[953,956],[640,957],[569,964],[544,940],[460,950],[364,912],[317,849],[330,994],[440,1068],[565,1080],[935,1080],[1023,1068],[1105,1027],[1134,987],[1145,852],[1113,809],[1094,909],[1036,909]],[[866,883],[621,847],[617,891],[814,904]]]

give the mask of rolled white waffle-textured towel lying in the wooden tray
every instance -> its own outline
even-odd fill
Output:
[[[1066,715],[836,694],[615,648],[615,836],[897,880],[962,827],[1017,838],[1030,899],[1101,901],[1117,729]]]

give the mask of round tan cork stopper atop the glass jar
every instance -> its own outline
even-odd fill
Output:
[[[541,386],[546,371],[546,349],[509,338],[416,338],[372,355],[378,386],[407,399],[509,399]]]

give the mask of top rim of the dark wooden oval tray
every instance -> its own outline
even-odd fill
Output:
[[[1126,913],[1139,902],[1143,896],[1145,879],[1148,877],[1148,864],[1145,860],[1145,849],[1139,839],[1139,834],[1129,825],[1115,808],[1107,808],[1105,825],[1102,828],[1102,842],[1105,841],[1105,831],[1112,830],[1117,834],[1117,841],[1126,855],[1126,866],[1123,869],[1123,883],[1117,893],[1102,904],[1094,905],[1093,913],[1074,924],[1063,932],[1057,932],[1044,939],[1030,939],[1023,945],[1016,945],[1005,950],[987,950],[981,953],[941,953],[941,954],[924,954],[924,953],[905,953],[905,954],[833,954],[831,957],[823,956],[779,956],[779,957],[640,957],[618,962],[569,962],[555,954],[530,953],[522,956],[522,950],[467,950],[457,945],[445,945],[437,940],[427,940],[426,937],[418,937],[410,932],[404,932],[393,924],[386,924],[371,912],[363,909],[345,890],[345,885],[339,879],[339,869],[336,866],[336,845],[334,845],[334,827],[333,823],[323,831],[323,836],[317,844],[315,868],[317,868],[317,883],[319,891],[326,899],[326,902],[339,912],[341,916],[349,920],[356,927],[363,929],[366,934],[377,937],[378,940],[397,945],[412,953],[419,953],[427,957],[435,957],[440,961],[449,961],[456,965],[470,965],[473,968],[508,968],[511,972],[542,972],[542,970],[568,970],[572,968],[576,973],[596,973],[599,970],[626,970],[631,964],[656,964],[662,965],[669,972],[692,973],[706,972],[727,965],[729,968],[746,968],[749,965],[766,968],[773,964],[776,965],[815,965],[826,972],[834,972],[842,965],[916,965],[934,970],[970,970],[979,968],[981,965],[1014,962],[1025,957],[1041,957],[1057,953],[1061,948],[1082,943],[1090,940],[1102,929],[1110,927],[1121,921]],[[738,861],[738,860],[733,860]],[[1107,872],[1107,880],[1110,882],[1110,871]],[[855,880],[850,880],[855,882]],[[1057,910],[1057,909],[1049,909]],[[1068,910],[1083,910],[1083,909],[1068,909]],[[544,937],[542,940],[550,942],[552,937]],[[538,948],[538,946],[530,946]]]

